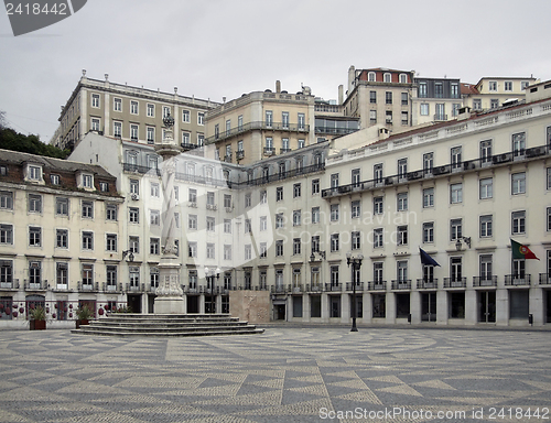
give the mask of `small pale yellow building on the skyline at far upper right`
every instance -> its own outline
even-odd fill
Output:
[[[506,101],[525,100],[526,88],[537,84],[534,77],[483,77],[465,94],[465,106],[473,110],[496,109]]]

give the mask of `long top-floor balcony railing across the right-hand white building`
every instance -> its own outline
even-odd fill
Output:
[[[522,154],[521,154],[522,153]],[[430,169],[420,169],[418,171],[408,172],[407,174],[396,174],[385,177],[377,177],[374,180],[366,180],[363,182],[355,182],[347,185],[338,185],[329,188],[322,189],[322,197],[329,198],[333,196],[345,195],[352,191],[369,191],[380,188],[382,186],[392,186],[397,184],[408,183],[415,180],[433,178],[450,173],[473,172],[478,169],[487,169],[488,166],[503,165],[515,161],[532,160],[534,158],[551,155],[551,145],[540,145],[526,150],[510,151],[507,153],[495,154],[491,156],[484,156],[482,159],[474,159],[468,161],[455,162],[443,164],[440,166],[432,166]]]

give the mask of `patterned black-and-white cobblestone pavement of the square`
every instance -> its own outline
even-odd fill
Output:
[[[550,332],[348,330],[0,332],[0,422],[551,420]]]

